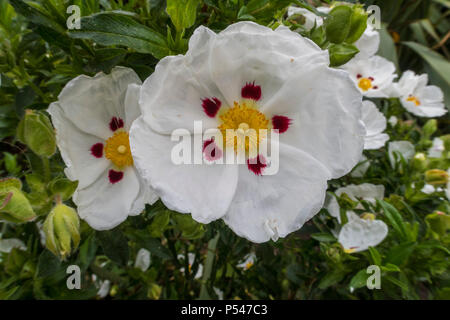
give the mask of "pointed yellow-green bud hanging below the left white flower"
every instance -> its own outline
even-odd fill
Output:
[[[64,204],[57,204],[45,219],[44,233],[47,249],[64,260],[80,243],[77,212]]]

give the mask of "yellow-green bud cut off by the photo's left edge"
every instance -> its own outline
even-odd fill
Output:
[[[0,180],[0,219],[14,223],[33,220],[36,214],[20,190],[22,183],[15,178]]]

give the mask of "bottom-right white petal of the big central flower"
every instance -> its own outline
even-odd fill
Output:
[[[303,151],[280,146],[280,168],[274,175],[255,176],[239,168],[239,182],[230,209],[223,218],[238,235],[253,242],[268,241],[271,221],[279,237],[300,229],[321,208],[328,170]]]

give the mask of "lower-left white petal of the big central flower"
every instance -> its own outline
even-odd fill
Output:
[[[191,213],[201,223],[226,213],[236,190],[236,166],[174,164],[171,150],[178,142],[155,133],[142,118],[133,123],[130,142],[138,171],[169,209]]]

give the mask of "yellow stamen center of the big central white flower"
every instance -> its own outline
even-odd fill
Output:
[[[222,132],[224,146],[233,147],[236,152],[241,148],[246,152],[249,149],[257,152],[259,143],[267,137],[269,120],[252,102],[234,102],[234,106],[219,118],[222,124],[218,128]],[[227,136],[227,130],[230,129],[233,131],[229,131]]]

